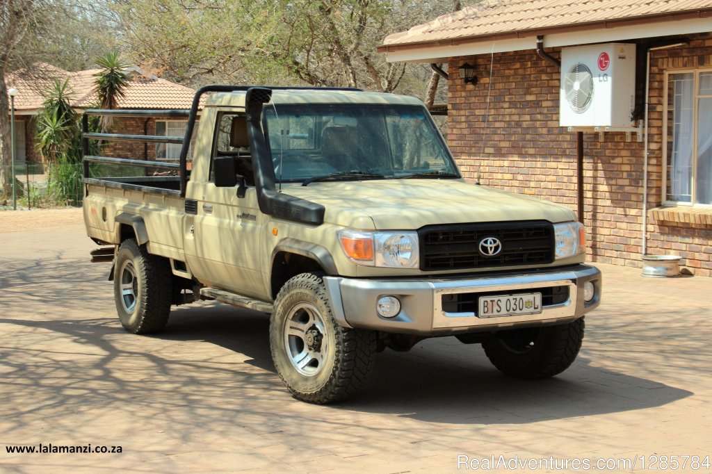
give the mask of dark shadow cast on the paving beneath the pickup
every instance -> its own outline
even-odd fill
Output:
[[[174,317],[158,337],[219,344],[246,354],[246,363],[274,373],[268,325],[268,317],[260,313],[221,305],[193,307]],[[428,339],[407,353],[386,349],[366,389],[335,407],[439,423],[528,423],[647,409],[691,394],[591,367],[582,356],[553,379],[512,379],[491,366],[478,344],[445,337]]]

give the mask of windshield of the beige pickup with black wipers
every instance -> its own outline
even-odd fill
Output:
[[[459,177],[424,107],[266,105],[277,181]]]

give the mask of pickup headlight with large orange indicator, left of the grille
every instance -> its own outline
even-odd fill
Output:
[[[346,256],[357,265],[419,268],[417,232],[338,231]]]

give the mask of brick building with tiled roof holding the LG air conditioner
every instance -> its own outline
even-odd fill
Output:
[[[448,142],[468,179],[577,210],[582,132],[590,259],[639,266],[675,254],[712,276],[711,31],[710,0],[483,0],[388,36],[379,51],[447,63]],[[562,126],[562,51],[609,43],[635,51],[629,123]]]

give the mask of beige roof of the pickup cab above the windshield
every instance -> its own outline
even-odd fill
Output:
[[[206,107],[244,107],[245,91],[211,94]],[[390,104],[423,105],[419,99],[409,95],[364,92],[361,90],[319,90],[319,89],[278,89],[272,93],[276,104]]]

